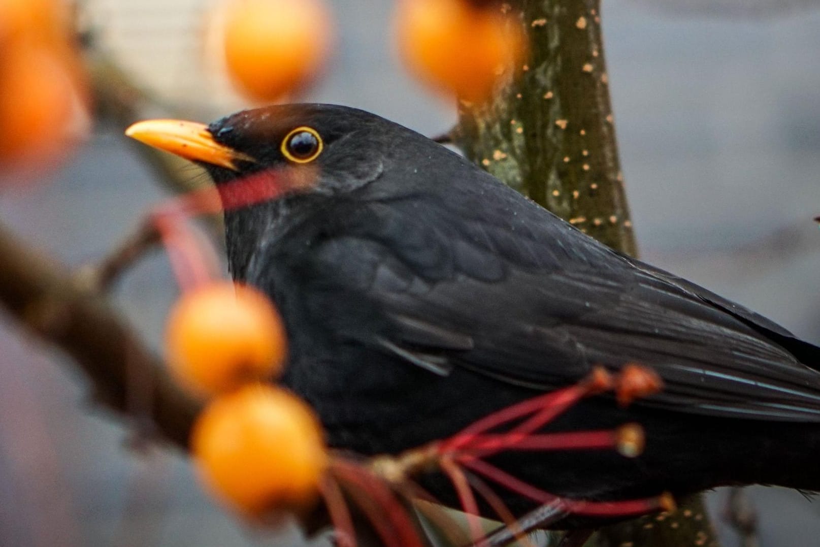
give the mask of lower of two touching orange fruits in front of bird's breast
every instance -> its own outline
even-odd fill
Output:
[[[211,403],[191,448],[208,486],[245,513],[307,508],[327,464],[307,404],[272,385],[246,385]]]

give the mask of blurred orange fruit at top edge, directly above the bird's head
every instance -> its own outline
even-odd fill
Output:
[[[225,63],[251,98],[281,98],[320,71],[331,42],[322,0],[232,0],[223,10]]]

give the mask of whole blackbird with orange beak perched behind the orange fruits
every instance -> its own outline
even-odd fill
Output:
[[[325,104],[129,133],[202,164],[216,185],[276,181],[276,198],[225,212],[230,271],[276,302],[290,343],[282,382],[316,409],[330,445],[398,453],[596,365],[638,362],[663,378],[660,393],[628,408],[585,399],[549,428],[639,422],[640,457],[493,463],[580,499],[820,490],[820,348],[600,244],[421,134]]]

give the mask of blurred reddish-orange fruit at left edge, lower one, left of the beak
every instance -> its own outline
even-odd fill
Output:
[[[62,152],[79,98],[75,75],[52,48],[13,43],[0,53],[0,164]]]

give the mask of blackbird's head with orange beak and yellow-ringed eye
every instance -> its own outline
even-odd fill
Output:
[[[270,173],[281,194],[339,194],[376,180],[391,144],[410,131],[355,108],[289,104],[226,116],[210,125],[140,121],[130,137],[205,167],[217,185]]]

